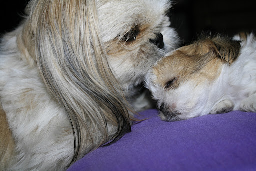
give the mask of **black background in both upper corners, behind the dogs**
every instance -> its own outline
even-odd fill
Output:
[[[28,0],[6,0],[0,6],[0,36],[15,28],[24,14]],[[175,0],[170,11],[172,27],[184,44],[202,31],[234,35],[256,30],[254,0]]]

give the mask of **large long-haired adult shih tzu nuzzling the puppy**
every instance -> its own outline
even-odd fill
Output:
[[[177,45],[170,7],[31,0],[24,21],[1,39],[0,170],[64,170],[129,132],[129,113],[146,105],[137,105],[137,86]]]

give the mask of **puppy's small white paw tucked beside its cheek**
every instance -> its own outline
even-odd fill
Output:
[[[210,111],[210,114],[220,114],[232,111],[234,103],[231,100],[223,100],[217,103],[214,108]]]

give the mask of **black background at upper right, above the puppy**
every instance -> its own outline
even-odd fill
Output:
[[[175,0],[170,12],[181,40],[189,43],[201,32],[233,36],[256,31],[255,0]]]

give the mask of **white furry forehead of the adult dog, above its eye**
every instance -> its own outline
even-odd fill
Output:
[[[137,25],[153,30],[166,19],[170,5],[169,0],[98,0],[102,35],[116,37]]]

